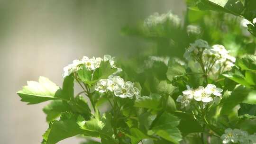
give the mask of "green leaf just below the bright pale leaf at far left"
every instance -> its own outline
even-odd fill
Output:
[[[62,100],[54,100],[50,104],[48,104],[43,111],[46,113],[46,121],[50,122],[55,120],[57,117],[61,115],[62,112],[69,111],[69,106],[64,103]]]

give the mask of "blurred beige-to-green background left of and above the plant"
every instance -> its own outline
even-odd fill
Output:
[[[73,59],[129,54],[139,40],[122,36],[121,27],[169,10],[182,16],[183,0],[0,0],[0,144],[40,144],[48,127],[47,102],[19,101],[26,81],[41,75],[61,86]]]

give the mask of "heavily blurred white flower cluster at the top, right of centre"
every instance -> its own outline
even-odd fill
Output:
[[[154,15],[149,16],[144,21],[145,27],[155,27],[158,24],[163,24],[166,21],[169,21],[173,26],[178,27],[181,24],[181,19],[174,15],[171,12],[168,12],[166,14],[159,15],[158,13],[155,13]]]

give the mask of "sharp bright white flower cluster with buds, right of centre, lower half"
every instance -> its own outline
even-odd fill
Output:
[[[176,101],[181,103],[181,108],[190,108],[190,103],[192,100],[196,101],[202,101],[204,106],[211,102],[219,102],[219,99],[221,99],[221,92],[223,90],[220,88],[217,88],[214,84],[208,84],[207,87],[198,87],[197,89],[192,89],[189,86],[187,86],[187,90],[184,90],[182,93],[183,95],[180,95]]]

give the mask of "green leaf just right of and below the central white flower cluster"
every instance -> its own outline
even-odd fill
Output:
[[[142,96],[135,100],[134,106],[140,108],[148,108],[159,110],[162,96],[158,94],[151,94],[150,96]]]

